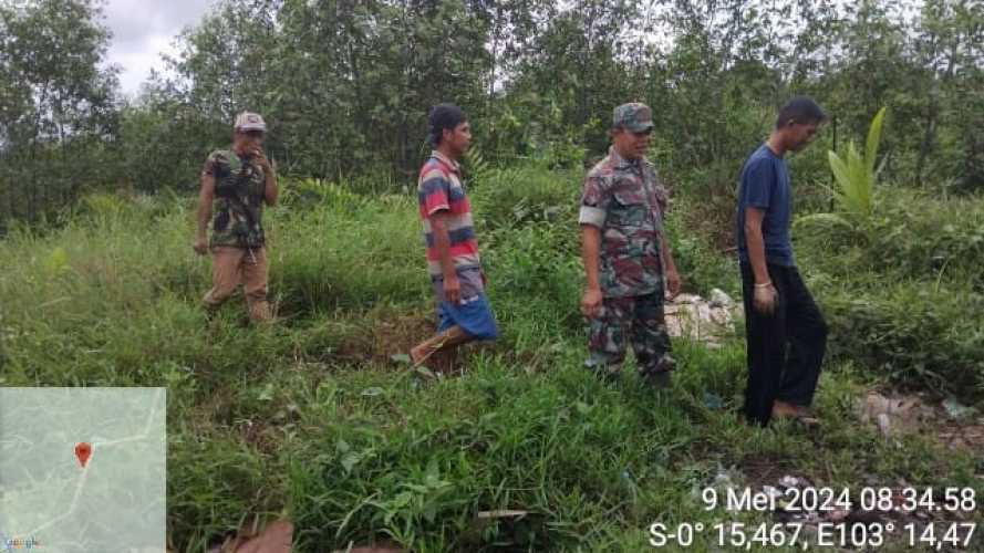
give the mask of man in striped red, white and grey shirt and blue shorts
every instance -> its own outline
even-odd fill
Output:
[[[437,352],[498,335],[458,165],[472,143],[472,127],[464,112],[452,104],[434,106],[428,127],[434,150],[421,169],[417,198],[438,326],[436,335],[411,349],[415,366]]]

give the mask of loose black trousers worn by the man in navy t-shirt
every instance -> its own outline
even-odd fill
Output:
[[[755,310],[755,275],[742,263],[745,300],[745,340],[748,344],[748,383],[745,417],[767,425],[776,399],[809,406],[827,349],[827,323],[795,267],[768,264],[778,292],[775,312]]]

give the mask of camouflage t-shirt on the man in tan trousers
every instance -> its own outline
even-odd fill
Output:
[[[209,246],[263,246],[263,169],[232,150],[218,149],[209,154],[201,173],[215,177]]]

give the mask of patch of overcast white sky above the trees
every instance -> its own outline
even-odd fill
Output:
[[[174,53],[175,36],[195,24],[211,0],[107,0],[105,23],[113,31],[107,62],[120,65],[120,86],[134,94],[151,74],[160,70],[160,53]]]

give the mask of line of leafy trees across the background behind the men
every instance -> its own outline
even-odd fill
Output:
[[[194,189],[244,109],[267,118],[281,175],[396,189],[447,101],[499,165],[590,163],[612,107],[645,102],[652,157],[711,197],[788,96],[833,115],[829,147],[889,106],[884,181],[984,187],[975,0],[218,0],[136,97],[105,66],[111,40],[96,0],[0,0],[0,226],[93,189]],[[822,156],[801,163],[829,179]]]

